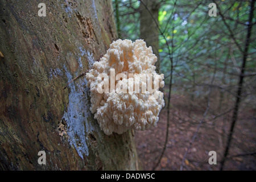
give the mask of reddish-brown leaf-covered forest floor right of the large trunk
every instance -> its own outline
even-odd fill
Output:
[[[217,103],[217,101],[215,102]],[[219,114],[214,113],[216,111],[212,109],[214,98],[211,104],[212,107],[210,107],[207,117],[201,124],[199,131],[196,132],[206,109],[205,104],[191,106],[188,98],[172,96],[167,147],[156,170],[180,170],[182,161],[184,161],[183,170],[220,169],[220,161],[229,134],[232,111],[216,118]],[[227,108],[232,108],[231,105]],[[222,109],[219,113],[224,111],[225,109]],[[240,108],[224,170],[256,170],[255,113],[253,109]],[[144,170],[152,170],[158,161],[166,138],[166,126],[167,108],[164,107],[159,114],[159,122],[156,127],[145,131],[135,131],[137,152]],[[185,151],[195,133],[196,138],[184,158]],[[216,165],[208,163],[209,151],[216,151]]]

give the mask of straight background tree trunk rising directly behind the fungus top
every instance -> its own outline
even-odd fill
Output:
[[[143,5],[146,5],[147,8]],[[158,57],[158,61],[155,63],[156,72],[160,73],[160,59],[159,59],[159,30],[156,26],[158,23],[158,0],[143,0],[143,3],[139,6],[141,13],[141,39],[147,43],[147,46],[151,46],[154,54]]]

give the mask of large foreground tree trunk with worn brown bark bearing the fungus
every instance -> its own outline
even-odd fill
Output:
[[[0,1],[0,169],[138,169],[133,132],[105,135],[86,71],[117,38],[111,1]],[[46,151],[46,165],[38,152]]]

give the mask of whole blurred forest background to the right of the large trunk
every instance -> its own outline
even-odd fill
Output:
[[[144,39],[165,78],[158,126],[135,134],[144,169],[255,170],[255,1],[112,2],[118,38]]]

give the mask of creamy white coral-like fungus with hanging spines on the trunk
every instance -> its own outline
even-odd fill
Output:
[[[90,111],[95,113],[94,118],[105,134],[122,134],[128,129],[144,130],[156,126],[159,112],[164,107],[163,93],[148,82],[150,77],[143,77],[151,75],[154,84],[164,86],[164,75],[155,72],[156,61],[152,48],[143,40],[118,39],[86,73],[92,103]],[[123,75],[120,77],[119,73]],[[99,86],[101,88],[103,82],[107,82],[109,88],[104,85],[105,92],[102,93]],[[143,86],[147,88],[146,92],[143,92]],[[150,92],[152,87],[154,92]]]

